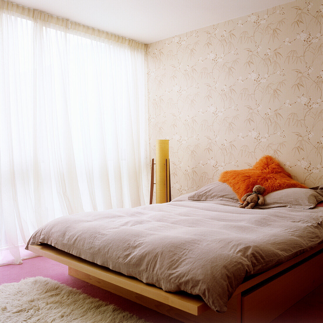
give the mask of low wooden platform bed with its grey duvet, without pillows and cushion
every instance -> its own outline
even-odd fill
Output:
[[[323,209],[240,209],[216,185],[221,200],[58,218],[26,248],[183,322],[270,322],[323,282]]]

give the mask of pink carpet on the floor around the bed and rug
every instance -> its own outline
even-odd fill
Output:
[[[137,315],[152,323],[179,323],[178,320],[160,314],[147,307],[131,302],[123,297],[109,293],[99,287],[86,283],[68,275],[68,267],[53,260],[36,257],[23,261],[22,265],[0,267],[0,285],[19,282],[27,277],[43,276],[54,279],[62,284],[81,290],[92,297],[99,298],[110,304]],[[277,317],[275,323],[318,323],[323,322],[323,285],[301,299],[287,311]]]

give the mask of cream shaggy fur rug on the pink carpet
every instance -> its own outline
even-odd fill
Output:
[[[147,323],[114,305],[44,277],[0,286],[0,322]]]

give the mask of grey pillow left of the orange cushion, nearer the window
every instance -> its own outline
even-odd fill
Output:
[[[196,192],[188,196],[193,201],[217,201],[224,200],[239,203],[237,195],[232,191],[228,184],[222,182],[214,182],[203,186]]]

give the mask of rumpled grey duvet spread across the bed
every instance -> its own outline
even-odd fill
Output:
[[[154,284],[200,295],[218,312],[245,276],[323,240],[323,209],[240,209],[226,201],[153,204],[57,218],[28,245],[47,243]]]

